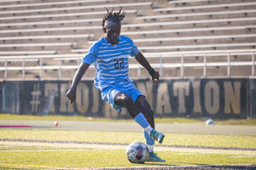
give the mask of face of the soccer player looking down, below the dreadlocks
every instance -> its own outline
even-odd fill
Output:
[[[111,44],[117,44],[119,42],[121,23],[113,22],[111,20],[106,20],[104,27],[105,27],[105,33],[106,33],[108,42]]]

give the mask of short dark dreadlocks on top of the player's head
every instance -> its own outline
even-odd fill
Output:
[[[113,13],[113,8],[110,12],[108,11],[108,8],[106,8],[106,10],[107,10],[107,14],[105,14],[102,19],[102,26],[105,25],[106,20],[111,20],[113,22],[119,22],[119,21],[125,19],[126,13],[125,13],[125,10],[122,11],[122,8],[120,8],[118,13]]]

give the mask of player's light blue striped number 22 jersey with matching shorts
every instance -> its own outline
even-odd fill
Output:
[[[128,59],[138,52],[137,46],[129,37],[119,36],[119,43],[116,45],[109,43],[106,37],[102,37],[84,56],[84,63],[89,65],[94,63],[96,67],[94,84],[102,92],[102,99],[113,105],[115,109],[119,109],[113,102],[117,93],[129,94],[134,102],[138,95],[142,95],[129,77]]]

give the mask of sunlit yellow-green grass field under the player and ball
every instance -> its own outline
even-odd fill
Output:
[[[56,120],[56,117],[52,118]],[[4,119],[3,115],[1,119]],[[203,123],[185,119],[177,121]],[[144,164],[132,164],[126,159],[125,149],[134,141],[144,141],[143,134],[0,128],[0,169],[256,164],[255,136],[166,133],[164,143],[155,146],[155,152],[166,162]]]

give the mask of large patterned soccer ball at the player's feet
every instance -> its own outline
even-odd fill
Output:
[[[131,163],[144,163],[149,157],[147,144],[143,142],[131,143],[126,150],[126,156]]]

